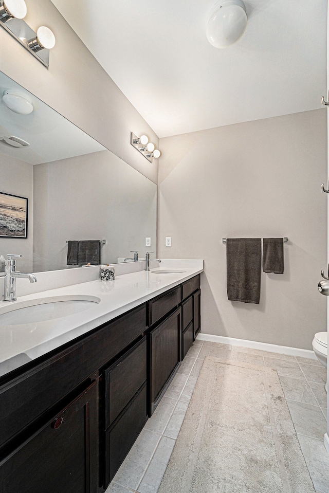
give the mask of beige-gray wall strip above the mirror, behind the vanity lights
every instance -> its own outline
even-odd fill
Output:
[[[158,138],[121,93],[50,0],[29,0],[27,24],[48,26],[56,36],[47,70],[5,29],[0,29],[1,70],[132,167],[157,182],[151,164],[130,144],[130,132]]]

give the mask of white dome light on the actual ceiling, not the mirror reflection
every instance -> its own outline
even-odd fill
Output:
[[[206,35],[215,48],[227,48],[240,40],[247,27],[246,7],[242,0],[222,0],[214,5]]]

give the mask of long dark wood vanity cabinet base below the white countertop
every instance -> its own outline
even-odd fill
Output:
[[[200,330],[200,277],[0,378],[0,491],[101,493]]]

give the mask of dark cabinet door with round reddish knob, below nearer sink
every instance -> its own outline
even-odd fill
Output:
[[[95,493],[97,382],[0,462],[2,493]]]

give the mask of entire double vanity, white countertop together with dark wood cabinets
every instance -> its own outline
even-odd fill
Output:
[[[4,492],[111,482],[200,330],[203,262],[160,267],[2,303]]]

